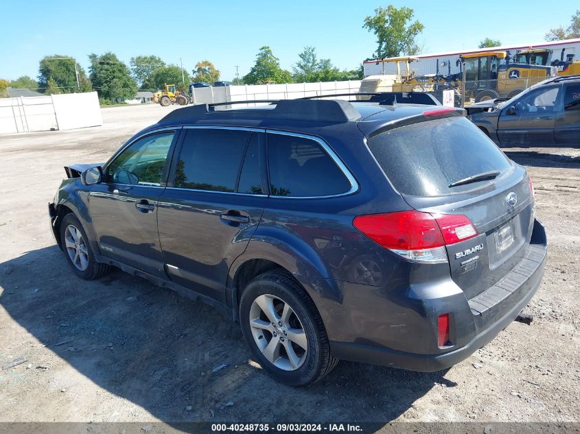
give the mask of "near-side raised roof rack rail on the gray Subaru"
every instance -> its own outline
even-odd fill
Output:
[[[217,106],[236,104],[269,103],[270,106],[256,107],[251,110],[215,110]],[[272,105],[275,105],[272,108]],[[260,118],[292,119],[294,121],[318,121],[328,123],[345,123],[360,119],[360,113],[349,101],[342,99],[252,99],[248,101],[227,101],[213,104],[199,104],[173,110],[159,122],[191,122],[207,116],[227,119],[248,118],[255,115]]]

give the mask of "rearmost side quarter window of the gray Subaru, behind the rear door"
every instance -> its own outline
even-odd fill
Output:
[[[299,136],[268,134],[270,194],[288,197],[347,193],[351,183],[320,143]]]

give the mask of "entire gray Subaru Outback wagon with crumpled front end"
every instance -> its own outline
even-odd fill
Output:
[[[174,110],[67,166],[51,230],[81,278],[115,266],[216,306],[284,383],[339,359],[450,367],[540,285],[533,185],[463,110],[364,97]]]

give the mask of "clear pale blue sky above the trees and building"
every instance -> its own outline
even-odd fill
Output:
[[[355,69],[376,49],[362,28],[380,6],[405,5],[425,25],[417,38],[422,53],[476,48],[480,40],[502,45],[539,43],[550,28],[568,27],[578,0],[548,6],[527,1],[10,1],[2,6],[0,78],[38,75],[38,62],[54,54],[73,56],[85,69],[90,53],[112,51],[130,58],[156,55],[192,71],[209,60],[222,80],[251,69],[260,47],[268,45],[281,67],[292,70],[306,45],[340,69]]]

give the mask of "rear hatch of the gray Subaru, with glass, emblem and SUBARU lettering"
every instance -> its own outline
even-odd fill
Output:
[[[446,245],[452,279],[474,298],[524,255],[533,228],[526,171],[464,117],[386,130],[367,141],[386,177],[421,212],[465,215],[478,234]]]

